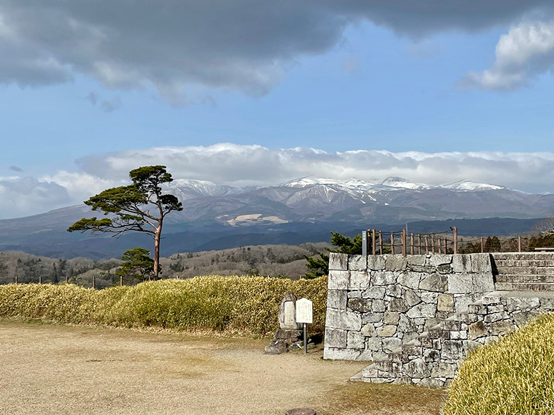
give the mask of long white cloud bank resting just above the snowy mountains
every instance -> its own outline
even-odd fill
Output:
[[[352,150],[309,147],[271,149],[221,143],[208,147],[153,147],[93,154],[76,160],[78,172],[64,170],[38,178],[0,177],[0,219],[79,204],[93,194],[125,185],[128,172],[142,165],[166,165],[174,178],[220,185],[277,185],[294,178],[382,181],[400,176],[439,185],[464,179],[526,192],[554,192],[554,153]],[[13,172],[12,172],[13,173]]]

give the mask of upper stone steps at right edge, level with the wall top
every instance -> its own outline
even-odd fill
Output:
[[[554,291],[554,253],[492,254],[497,291]]]

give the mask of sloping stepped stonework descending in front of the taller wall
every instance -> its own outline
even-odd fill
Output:
[[[351,380],[448,386],[467,352],[554,310],[554,291],[494,291],[373,362]]]

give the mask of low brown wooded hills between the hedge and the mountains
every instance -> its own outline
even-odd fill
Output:
[[[328,243],[303,243],[299,246],[262,245],[226,250],[184,252],[161,258],[161,278],[182,279],[199,275],[263,275],[298,279],[307,273],[305,255],[316,255]],[[114,252],[114,256],[116,253]],[[96,288],[120,283],[116,275],[120,259],[88,258],[53,259],[25,252],[0,252],[0,284],[69,282]],[[123,284],[134,285],[141,280],[124,277]]]

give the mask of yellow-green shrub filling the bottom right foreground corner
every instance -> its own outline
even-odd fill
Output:
[[[443,415],[554,414],[554,315],[476,349],[452,382]]]

